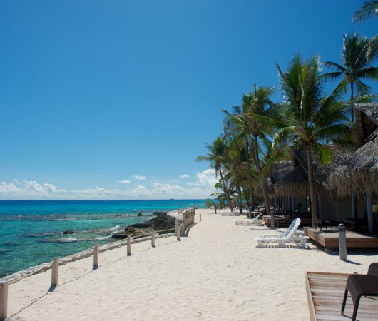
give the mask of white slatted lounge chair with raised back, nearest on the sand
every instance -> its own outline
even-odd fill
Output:
[[[291,242],[295,243],[296,245],[305,248],[306,246],[306,238],[305,236],[298,235],[297,229],[300,226],[300,219],[296,218],[292,221],[289,228],[287,228],[285,233],[282,234],[265,234],[260,235],[257,240],[259,247],[263,247],[269,243],[277,242],[280,247],[285,247],[285,243]]]

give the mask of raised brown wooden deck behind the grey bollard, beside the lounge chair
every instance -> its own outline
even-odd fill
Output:
[[[319,228],[304,228],[305,234],[310,240],[324,246],[325,248],[339,248],[339,233],[320,231]],[[337,228],[333,228],[337,230]],[[377,234],[359,234],[347,231],[347,248],[378,248]]]

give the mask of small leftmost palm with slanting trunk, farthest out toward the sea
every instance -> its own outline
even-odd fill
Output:
[[[213,141],[213,144],[206,143],[206,148],[208,148],[208,155],[198,156],[195,161],[210,161],[210,165],[215,169],[215,175],[220,175],[220,180],[223,185],[223,193],[225,193],[225,198],[227,200],[228,206],[233,210],[233,205],[230,200],[230,193],[228,186],[226,184],[225,178],[223,176],[222,167],[225,165],[226,156],[226,143],[223,136],[218,136]]]

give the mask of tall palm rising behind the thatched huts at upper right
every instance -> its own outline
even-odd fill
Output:
[[[342,48],[342,65],[327,61],[326,66],[333,68],[335,71],[326,73],[326,78],[339,78],[344,76],[343,84],[349,83],[350,86],[350,118],[354,122],[360,121],[361,113],[354,113],[354,87],[357,95],[363,95],[369,92],[370,87],[363,83],[364,79],[378,80],[378,67],[372,66],[372,60],[377,55],[377,37],[368,39],[360,37],[357,33],[352,35],[344,34]]]

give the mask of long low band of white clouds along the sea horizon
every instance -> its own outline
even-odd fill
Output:
[[[0,182],[0,199],[26,200],[26,199],[51,199],[51,200],[137,200],[137,199],[170,199],[170,198],[208,198],[215,191],[217,182],[214,170],[197,172],[195,180],[185,185],[180,182],[151,184],[123,185],[123,188],[102,188],[100,186],[88,188],[76,188],[66,190],[58,188],[51,183],[38,183],[36,180],[12,180]],[[127,180],[119,180],[124,182]],[[130,183],[130,182],[129,182]]]

